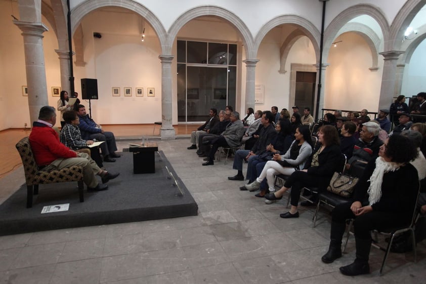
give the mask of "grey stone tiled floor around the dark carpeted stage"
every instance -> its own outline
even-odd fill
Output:
[[[354,240],[342,258],[321,262],[330,229],[325,210],[316,228],[313,208],[281,219],[285,201],[265,205],[238,189],[244,182],[227,180],[232,161],[202,167],[188,139],[158,144],[197,201],[198,216],[2,236],[0,283],[426,283],[425,242],[417,263],[412,254],[391,254],[380,277],[383,252],[372,249],[371,274],[343,276],[338,267],[353,261]],[[0,197],[23,182],[20,167],[0,180]]]

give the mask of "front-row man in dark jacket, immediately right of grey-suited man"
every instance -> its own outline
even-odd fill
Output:
[[[277,132],[274,128],[275,116],[271,111],[264,111],[262,114],[262,130],[259,134],[259,139],[254,144],[253,148],[249,150],[238,150],[235,153],[234,164],[232,168],[237,170],[237,174],[233,177],[228,177],[229,180],[244,180],[242,174],[242,163],[246,159],[250,166],[251,162],[256,158],[257,155],[266,151],[266,146],[271,144],[272,140],[277,136]]]

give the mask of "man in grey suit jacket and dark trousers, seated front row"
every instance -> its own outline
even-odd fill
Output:
[[[237,111],[234,111],[231,114],[231,122],[228,124],[225,131],[219,137],[211,141],[211,150],[208,160],[202,165],[214,165],[215,153],[219,147],[237,147],[241,144],[243,134],[244,125],[240,120],[240,114]]]

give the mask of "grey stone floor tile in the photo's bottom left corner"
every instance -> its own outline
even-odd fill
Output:
[[[47,284],[55,265],[39,265],[0,272],[0,283],[7,284]]]

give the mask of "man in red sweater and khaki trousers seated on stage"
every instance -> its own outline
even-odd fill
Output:
[[[108,189],[107,183],[119,173],[112,174],[101,170],[87,153],[76,153],[59,141],[58,133],[52,128],[56,124],[56,110],[52,106],[44,106],[34,121],[29,142],[34,153],[35,162],[45,171],[61,170],[70,166],[83,168],[83,180],[89,191]],[[102,178],[100,184],[95,175]]]

